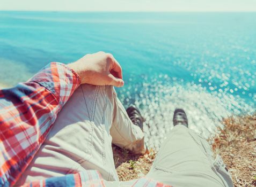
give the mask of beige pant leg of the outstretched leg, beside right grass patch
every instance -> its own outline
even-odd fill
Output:
[[[209,144],[182,125],[160,147],[147,177],[173,186],[226,186],[216,173]]]

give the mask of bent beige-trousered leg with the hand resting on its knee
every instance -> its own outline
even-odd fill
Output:
[[[143,132],[128,118],[114,88],[81,85],[58,114],[17,185],[85,169],[97,169],[105,180],[118,181],[112,136],[120,147],[134,152],[144,149]]]

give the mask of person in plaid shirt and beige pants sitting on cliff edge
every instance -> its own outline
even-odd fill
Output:
[[[98,52],[51,63],[1,90],[0,185],[232,186],[223,161],[213,160],[181,109],[149,174],[120,182],[111,144],[145,152],[143,118],[136,107],[125,111],[113,88],[123,84],[118,61]]]

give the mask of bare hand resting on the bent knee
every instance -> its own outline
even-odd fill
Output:
[[[122,87],[122,68],[110,53],[86,54],[68,66],[81,77],[81,83]]]

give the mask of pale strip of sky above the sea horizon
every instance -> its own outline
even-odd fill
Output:
[[[26,11],[256,11],[256,0],[0,0],[0,10]]]

